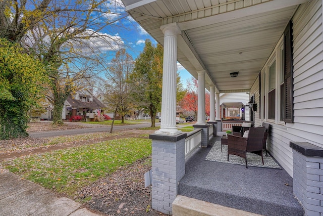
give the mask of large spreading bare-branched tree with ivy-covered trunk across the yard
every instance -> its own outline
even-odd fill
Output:
[[[119,36],[100,33],[122,27],[117,23],[127,14],[113,13],[120,7],[117,0],[0,2],[0,36],[20,42],[46,65],[54,123],[63,123],[64,102],[98,73],[100,59],[123,47]]]

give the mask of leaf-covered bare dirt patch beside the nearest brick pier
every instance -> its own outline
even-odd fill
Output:
[[[151,158],[122,167],[106,178],[79,191],[76,199],[106,215],[167,215],[151,209],[150,187],[144,187],[144,173],[151,168]]]

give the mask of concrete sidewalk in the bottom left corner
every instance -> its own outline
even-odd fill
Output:
[[[58,197],[49,190],[12,172],[0,174],[0,216],[95,216],[82,204]]]

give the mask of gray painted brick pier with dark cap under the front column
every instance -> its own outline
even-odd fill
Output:
[[[172,214],[172,203],[178,193],[178,183],[185,175],[185,138],[151,134],[151,207]]]

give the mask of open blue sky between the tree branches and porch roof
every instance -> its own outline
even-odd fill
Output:
[[[122,4],[120,0],[116,0],[116,2]],[[115,11],[116,13],[121,14],[121,15],[116,15],[116,14],[109,15],[110,20],[118,19],[127,13],[125,11],[125,8],[120,4],[110,5],[110,6],[113,6],[113,7],[110,7],[111,11]],[[127,16],[126,18],[119,20],[117,25],[118,27],[111,27],[108,29],[104,29],[104,32],[101,32],[101,33],[107,33],[107,34],[118,36],[120,40],[122,40],[123,44],[125,45],[127,52],[130,55],[132,55],[133,59],[136,59],[137,56],[143,51],[146,39],[150,39],[154,45],[157,44],[156,41],[153,39],[153,37],[151,37],[130,16]],[[186,80],[191,79],[192,76],[179,63],[178,63],[178,72],[180,73],[180,76],[181,76],[181,82],[185,87],[187,82]]]

